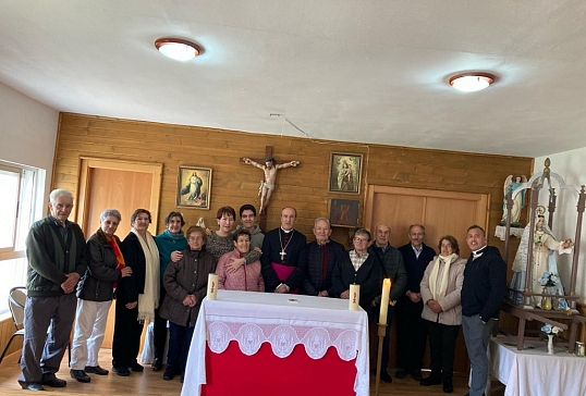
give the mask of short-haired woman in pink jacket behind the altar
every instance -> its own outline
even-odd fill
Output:
[[[251,233],[241,228],[234,232],[234,250],[227,252],[218,261],[216,273],[218,274],[218,288],[227,290],[265,292],[265,282],[260,274],[260,261],[256,260],[239,268],[234,272],[228,272],[227,265],[232,259],[244,258],[251,250]]]

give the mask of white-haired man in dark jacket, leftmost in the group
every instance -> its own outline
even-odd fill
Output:
[[[82,228],[68,221],[72,209],[70,191],[52,190],[50,214],[34,223],[26,238],[28,280],[19,378],[23,389],[42,391],[42,385],[68,384],[54,373],[61,366],[75,319],[75,286],[87,268]]]

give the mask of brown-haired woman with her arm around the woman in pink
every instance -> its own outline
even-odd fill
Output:
[[[229,251],[234,250],[234,238],[232,236],[232,228],[234,226],[234,219],[236,218],[236,211],[232,207],[221,207],[218,209],[216,219],[218,221],[218,231],[210,233],[208,240],[206,242],[206,250],[213,256],[217,260]],[[255,262],[260,259],[260,251],[253,250],[242,258],[232,258],[227,263],[227,270],[229,272],[236,271],[241,265]]]

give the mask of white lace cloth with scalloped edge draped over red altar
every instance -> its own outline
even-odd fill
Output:
[[[340,359],[356,359],[354,392],[368,395],[368,320],[364,310],[349,310],[347,300],[218,290],[217,300],[206,298],[202,304],[181,396],[199,396],[206,384],[206,344],[221,354],[231,341],[247,356],[269,343],[274,356],[283,359],[300,344],[313,359],[334,347]]]

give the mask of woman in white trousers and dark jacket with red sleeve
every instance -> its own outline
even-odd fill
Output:
[[[118,282],[132,274],[124,267],[120,239],[114,235],[120,224],[120,212],[106,209],[100,214],[100,228],[87,239],[89,263],[77,284],[77,312],[71,352],[71,376],[89,382],[87,373],[107,375],[98,364],[98,352],[103,342],[108,312]]]

